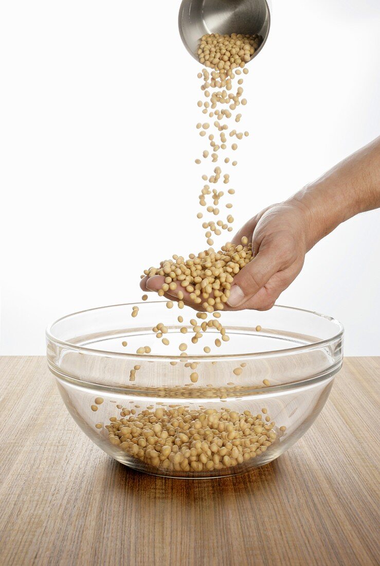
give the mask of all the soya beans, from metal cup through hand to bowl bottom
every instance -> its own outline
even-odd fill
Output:
[[[231,197],[235,188],[231,187],[228,167],[237,165],[235,152],[240,141],[248,137],[248,131],[239,129],[239,106],[247,104],[242,86],[244,76],[248,74],[245,63],[260,43],[261,37],[257,35],[212,33],[201,37],[198,57],[205,68],[197,76],[201,79],[204,100],[199,100],[197,105],[204,118],[196,128],[205,141],[205,148],[195,159],[196,164],[203,168],[198,197],[201,209],[197,218],[202,221],[209,247],[197,255],[190,254],[188,259],[173,255],[171,259],[161,261],[158,267],[145,269],[141,276],[160,277],[158,295],[169,299],[167,308],[179,309],[179,323],[184,322],[180,312],[185,305],[198,311],[194,312],[189,324],[184,323],[180,328],[183,342],[179,345],[179,356],[180,361],[189,367],[189,385],[197,383],[200,370],[199,362],[186,360],[188,342],[200,342],[200,349],[209,354],[214,353],[210,346],[201,346],[202,337],[208,329],[216,329],[220,336],[215,338],[213,350],[218,351],[223,342],[230,340],[223,327],[222,311],[234,276],[252,259],[251,242],[245,237],[239,245],[227,242],[218,251],[210,246],[214,244],[215,237],[232,231]],[[206,167],[207,164],[210,165]],[[205,172],[207,169],[209,171]],[[176,301],[170,300],[173,294]],[[143,295],[144,301],[147,298],[148,295]],[[133,307],[131,316],[138,315],[139,307]],[[190,332],[189,327],[192,328]],[[258,332],[260,329],[260,326],[256,327]],[[169,346],[165,321],[158,322],[152,332],[157,340]],[[127,346],[126,341],[122,344]],[[143,355],[151,351],[149,346],[141,345],[136,353]],[[177,362],[168,363],[175,365]],[[240,375],[244,366],[242,363],[233,373]],[[135,365],[131,370],[129,381],[138,383],[140,367]],[[270,385],[265,381],[264,386]],[[103,398],[97,397],[91,409],[97,411],[102,403]],[[260,413],[252,414],[249,410],[239,413],[227,406],[209,409],[200,405],[195,409],[190,405],[162,405],[157,402],[156,406],[150,405],[144,410],[138,405],[132,408],[117,405],[119,412],[109,419],[109,423],[98,422],[95,426],[105,432],[114,447],[157,469],[158,473],[159,470],[194,473],[228,471],[252,458],[260,458],[285,431],[285,427],[277,427],[265,407]]]

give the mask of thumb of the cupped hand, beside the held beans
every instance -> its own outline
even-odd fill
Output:
[[[279,271],[280,258],[270,248],[258,254],[234,277],[227,305],[238,307],[248,301]]]

